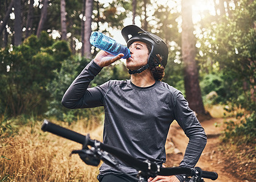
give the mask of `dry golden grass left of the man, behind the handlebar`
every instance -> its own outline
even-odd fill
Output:
[[[97,124],[85,127],[86,121],[78,121],[71,127],[53,123],[84,135],[91,133],[97,140],[102,138],[102,126]],[[99,167],[86,165],[78,155],[69,157],[73,149],[81,149],[81,144],[44,133],[41,124],[24,126],[19,135],[1,138],[0,181],[97,181]]]

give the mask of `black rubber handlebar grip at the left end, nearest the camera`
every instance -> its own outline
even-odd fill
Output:
[[[44,120],[44,123],[41,129],[44,132],[47,131],[55,135],[62,136],[63,138],[67,138],[69,140],[75,141],[80,144],[83,144],[85,142],[85,137],[86,137],[85,135],[81,135],[80,133],[58,126],[54,123],[50,123],[50,121],[48,120]]]

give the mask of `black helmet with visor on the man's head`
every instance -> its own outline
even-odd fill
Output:
[[[166,66],[167,59],[168,59],[168,47],[165,44],[165,42],[161,38],[159,38],[159,36],[156,36],[153,33],[142,30],[136,25],[128,25],[124,27],[122,29],[122,36],[127,42],[127,47],[133,44],[134,41],[142,41],[150,44],[151,52],[150,52],[150,55],[148,56],[148,64],[151,63],[151,61],[153,61],[154,59],[158,60],[156,55],[159,54],[162,56],[162,62],[161,62],[162,66],[164,67]],[[147,64],[147,68],[148,68],[148,64]],[[160,62],[157,62],[157,65],[158,64],[160,64]]]

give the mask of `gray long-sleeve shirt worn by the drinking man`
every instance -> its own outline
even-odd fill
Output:
[[[104,106],[103,143],[159,164],[166,160],[165,141],[170,124],[176,120],[189,137],[180,166],[194,167],[207,139],[182,93],[161,81],[150,87],[137,87],[130,80],[110,80],[88,88],[101,69],[91,61],[67,89],[62,104],[69,109]],[[136,173],[125,164],[121,167],[130,174]],[[108,172],[118,173],[103,164],[100,174]]]

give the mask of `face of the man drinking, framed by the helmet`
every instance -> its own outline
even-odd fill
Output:
[[[129,49],[131,52],[131,57],[126,59],[127,69],[137,70],[147,64],[149,52],[145,42],[133,42]]]

